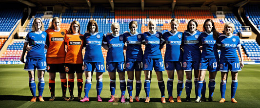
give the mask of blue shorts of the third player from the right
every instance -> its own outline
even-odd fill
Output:
[[[182,66],[184,71],[199,70],[200,61],[183,61]]]

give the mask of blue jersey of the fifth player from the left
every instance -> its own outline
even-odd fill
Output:
[[[109,49],[107,51],[106,61],[107,62],[122,62],[124,61],[124,43],[125,36],[118,35],[105,36],[104,42],[108,45]]]

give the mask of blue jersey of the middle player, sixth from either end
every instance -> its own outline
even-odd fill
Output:
[[[127,61],[142,61],[142,46],[141,43],[144,41],[142,34],[128,34],[124,33],[125,41],[127,44],[126,59]]]

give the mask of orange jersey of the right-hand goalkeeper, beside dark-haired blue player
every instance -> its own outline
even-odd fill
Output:
[[[82,46],[84,37],[81,34],[66,35],[65,43],[67,43],[67,54],[65,57],[65,63],[80,64],[83,63],[82,58]]]

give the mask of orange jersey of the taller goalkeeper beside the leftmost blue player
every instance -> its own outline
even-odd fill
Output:
[[[65,57],[64,37],[67,30],[60,29],[59,32],[55,32],[53,29],[48,29],[45,32],[47,33],[47,57]]]

